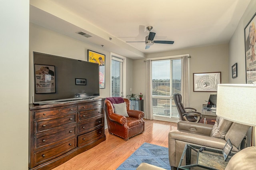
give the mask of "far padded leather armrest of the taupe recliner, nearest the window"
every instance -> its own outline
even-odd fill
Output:
[[[196,122],[188,122],[188,121],[178,121],[178,130],[187,130],[190,132],[195,132],[203,135],[210,136],[213,125],[204,124],[204,123],[196,123]]]

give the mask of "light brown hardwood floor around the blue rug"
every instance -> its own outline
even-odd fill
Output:
[[[168,148],[168,133],[177,129],[177,123],[146,120],[145,132],[128,141],[109,134],[105,129],[106,141],[83,152],[53,170],[115,170],[144,142]]]

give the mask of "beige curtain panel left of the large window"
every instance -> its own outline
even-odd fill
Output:
[[[153,120],[153,109],[152,109],[152,74],[150,73],[151,60],[146,60],[146,107],[145,107],[145,119]]]

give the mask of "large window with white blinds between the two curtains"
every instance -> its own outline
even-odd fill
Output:
[[[152,108],[154,116],[179,117],[173,94],[181,91],[181,59],[152,61]]]

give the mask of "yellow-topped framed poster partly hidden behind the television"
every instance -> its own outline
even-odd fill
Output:
[[[88,61],[99,64],[100,89],[105,88],[105,55],[88,49]]]

